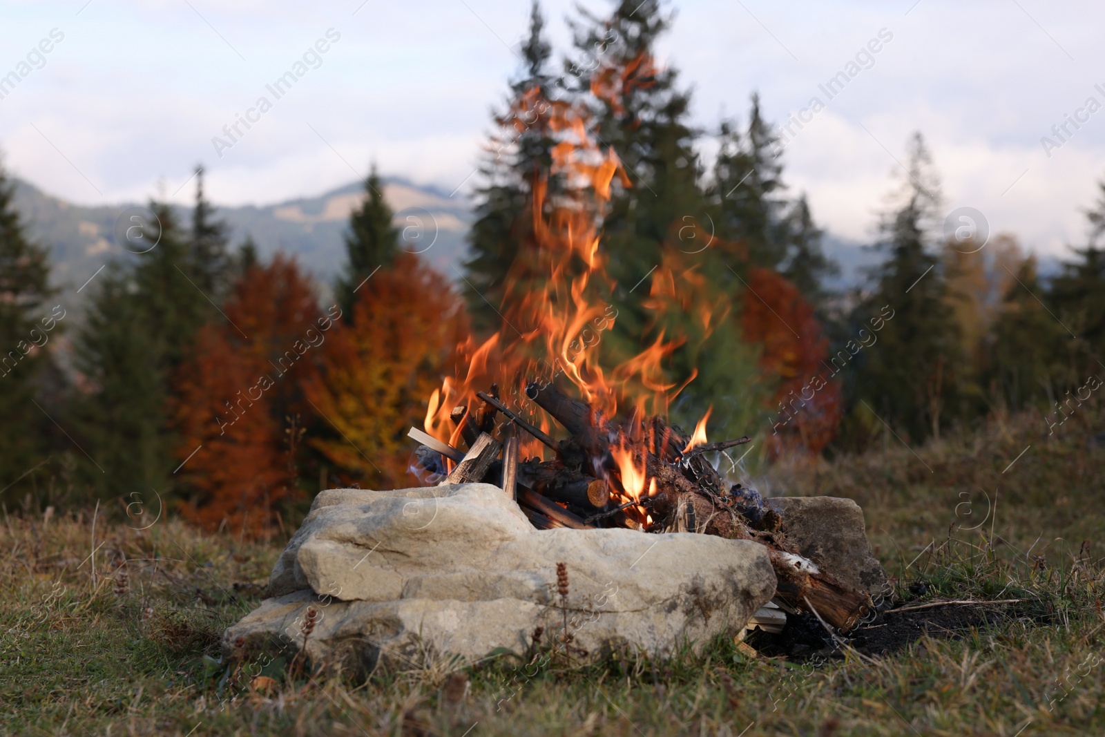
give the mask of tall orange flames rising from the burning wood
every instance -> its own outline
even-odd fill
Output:
[[[628,76],[607,80],[608,91],[623,94],[651,84],[654,74],[651,60],[636,60]],[[486,391],[493,381],[502,390],[501,400],[513,411],[552,432],[549,415],[523,392],[530,380],[551,381],[560,375],[604,418],[617,417],[619,407],[638,418],[666,415],[670,402],[696,375],[693,371],[685,381],[676,381],[665,369],[671,355],[686,343],[685,336],[667,337],[663,326],[654,323],[646,329],[659,337],[638,355],[613,367],[599,361],[603,333],[613,327],[618,314],[603,298],[612,295],[615,284],[607,273],[599,223],[614,185],[630,187],[621,160],[588,133],[591,113],[585,104],[543,101],[535,87],[522,95],[513,109],[512,119],[504,125],[509,123],[513,130],[532,125],[556,141],[549,176],[556,178],[557,187],[550,188],[548,178],[534,179],[530,230],[520,236],[502,298],[494,305],[502,327],[483,343],[470,338],[457,346],[456,364],[467,365],[466,376],[446,379],[430,398],[427,432],[455,444],[459,432],[450,424],[450,411],[464,404],[474,412],[480,403],[475,392]],[[703,293],[698,288],[703,281],[694,269],[670,262],[665,255],[651,277],[642,306],[654,310],[657,320],[672,308],[694,310],[708,334],[712,325],[727,315],[727,307],[722,301],[717,305],[692,304],[694,295]],[[615,456],[618,470],[613,473],[620,473],[629,496],[625,501],[638,499],[648,486],[643,459],[634,460],[622,451],[620,459]],[[526,436],[520,453],[524,457],[544,456],[545,449]],[[643,509],[640,517],[644,519]]]

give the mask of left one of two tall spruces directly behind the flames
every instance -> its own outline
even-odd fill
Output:
[[[548,71],[552,52],[544,28],[535,0],[529,35],[522,44],[523,67],[511,82],[504,108],[494,116],[497,133],[488,141],[480,167],[484,183],[476,192],[476,219],[469,232],[471,257],[464,264],[464,295],[475,327],[482,331],[501,326],[507,273],[519,251],[537,248],[532,215],[535,185],[545,181],[554,192],[558,189],[556,180],[550,181],[556,145],[551,113],[555,101],[567,93],[562,82]]]

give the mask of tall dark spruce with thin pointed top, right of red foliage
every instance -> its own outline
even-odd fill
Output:
[[[874,293],[853,318],[866,330],[871,320],[885,320],[877,344],[862,352],[859,391],[884,421],[922,440],[938,438],[955,410],[961,356],[930,235],[940,201],[938,181],[920,134],[909,144],[899,199],[902,204],[880,227],[876,248],[887,259],[874,272]]]

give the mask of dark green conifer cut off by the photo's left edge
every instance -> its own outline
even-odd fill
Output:
[[[27,236],[12,197],[13,187],[0,169],[0,488],[14,484],[49,449],[52,425],[46,428],[49,420],[34,401],[59,317],[48,308],[54,294],[48,254]],[[59,309],[64,316],[64,308]],[[33,482],[28,476],[23,481]],[[13,487],[7,494],[22,491]]]

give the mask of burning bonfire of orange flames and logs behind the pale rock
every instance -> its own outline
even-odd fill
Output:
[[[780,607],[851,629],[872,609],[867,593],[800,556],[760,494],[729,484],[708,461],[749,439],[707,442],[709,411],[690,434],[669,423],[669,407],[694,373],[676,386],[662,361],[684,339],[661,334],[607,372],[599,341],[583,337],[617,319],[594,296],[612,287],[597,223],[614,177],[630,182],[613,151],[587,134],[586,110],[550,105],[543,124],[560,140],[554,173],[569,187],[548,201],[547,182],[535,182],[536,243],[507,280],[504,327],[482,344],[470,338],[459,346],[465,376],[434,391],[424,430],[411,429],[421,443],[419,470],[442,484],[501,486],[539,529],[624,527],[755,540],[770,551]],[[670,264],[655,270],[654,307],[676,299],[674,282]],[[680,307],[693,309],[694,298]],[[727,310],[697,307],[707,328]]]

